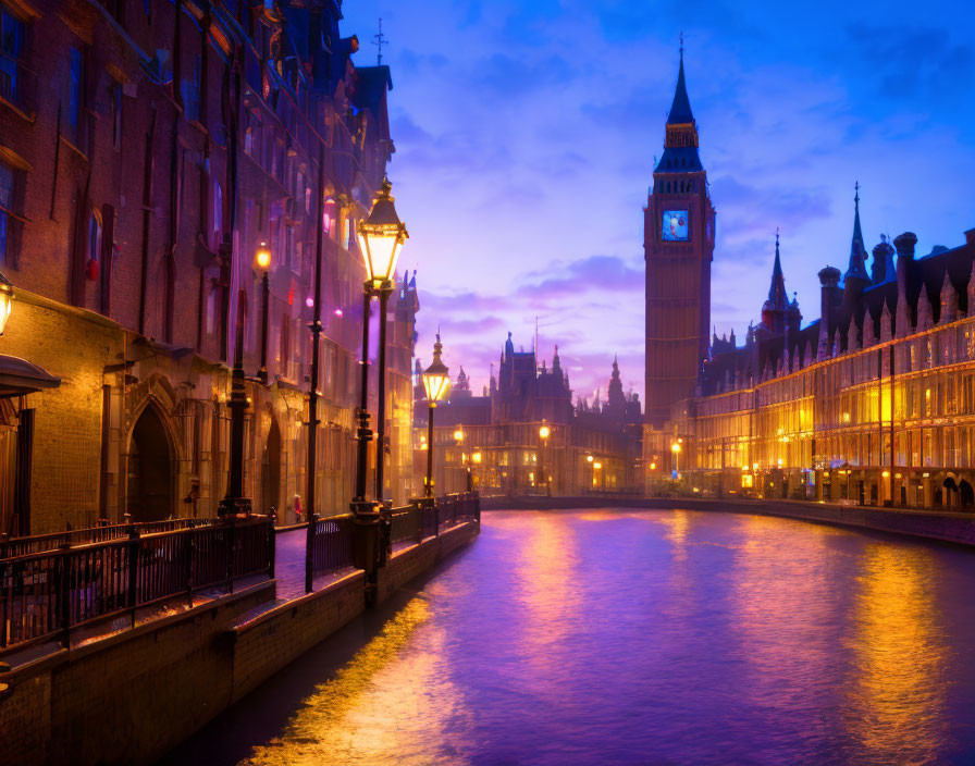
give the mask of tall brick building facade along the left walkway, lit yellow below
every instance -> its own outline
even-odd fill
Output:
[[[355,228],[394,152],[388,67],[354,66],[337,0],[0,0],[0,272],[16,296],[0,354],[61,380],[0,399],[0,531],[212,515],[242,293],[245,491],[282,519],[296,497],[311,505],[318,299],[313,506],[343,511],[363,321]],[[403,410],[415,289],[397,285],[390,311],[386,492],[397,501],[414,492]]]

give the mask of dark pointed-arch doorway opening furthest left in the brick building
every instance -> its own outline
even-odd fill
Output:
[[[143,410],[128,445],[128,512],[133,521],[173,515],[173,455],[156,407]]]

